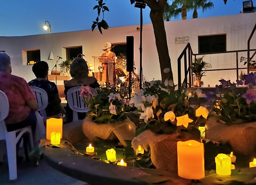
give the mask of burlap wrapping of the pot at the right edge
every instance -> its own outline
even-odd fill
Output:
[[[251,154],[256,149],[256,122],[228,126],[210,118],[205,124],[205,138],[229,142],[234,153]]]

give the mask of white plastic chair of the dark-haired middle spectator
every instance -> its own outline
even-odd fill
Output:
[[[38,112],[42,117],[44,117],[44,121],[47,119],[47,114],[46,114],[46,107],[48,105],[48,95],[47,92],[44,89],[38,88],[38,87],[33,87],[30,86],[31,90],[35,94],[36,101],[38,103]]]

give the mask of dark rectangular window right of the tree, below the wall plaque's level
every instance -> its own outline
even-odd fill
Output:
[[[225,52],[226,34],[198,36],[198,53],[207,54],[212,52]]]

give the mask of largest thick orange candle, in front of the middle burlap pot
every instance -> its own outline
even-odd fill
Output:
[[[204,145],[195,140],[178,141],[178,175],[187,179],[204,177]]]

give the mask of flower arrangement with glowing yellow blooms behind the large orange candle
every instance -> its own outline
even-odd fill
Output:
[[[168,73],[168,68],[164,72]],[[130,100],[130,105],[140,113],[141,131],[150,129],[159,134],[181,135],[182,130],[194,129],[202,119],[205,122],[208,110],[190,107],[186,93],[185,84],[175,90],[169,77],[164,84],[160,81],[145,82],[143,89]]]

